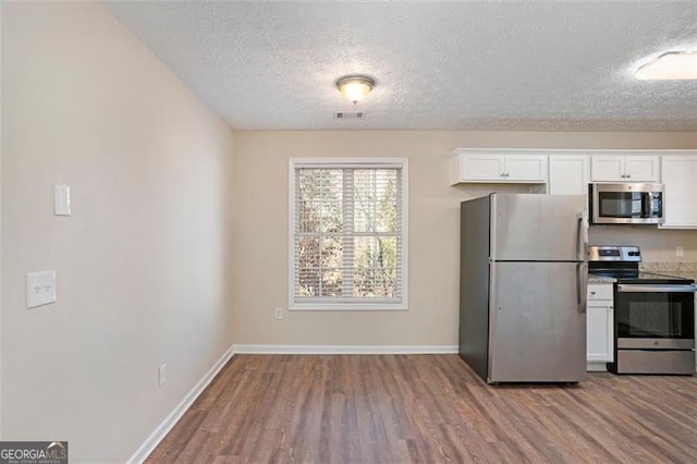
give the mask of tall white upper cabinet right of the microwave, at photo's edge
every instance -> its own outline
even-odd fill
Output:
[[[661,158],[663,229],[697,229],[697,155]]]

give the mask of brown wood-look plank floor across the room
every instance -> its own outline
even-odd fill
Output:
[[[149,463],[697,462],[697,377],[487,386],[456,355],[236,355]]]

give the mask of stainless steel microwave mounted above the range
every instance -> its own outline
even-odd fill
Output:
[[[663,184],[590,184],[594,224],[662,224]]]

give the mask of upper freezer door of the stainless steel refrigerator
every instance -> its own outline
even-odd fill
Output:
[[[584,195],[492,194],[491,212],[494,260],[586,259]]]

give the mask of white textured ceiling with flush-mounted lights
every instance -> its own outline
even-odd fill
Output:
[[[107,4],[233,129],[697,131],[697,81],[633,78],[697,50],[697,0]]]

